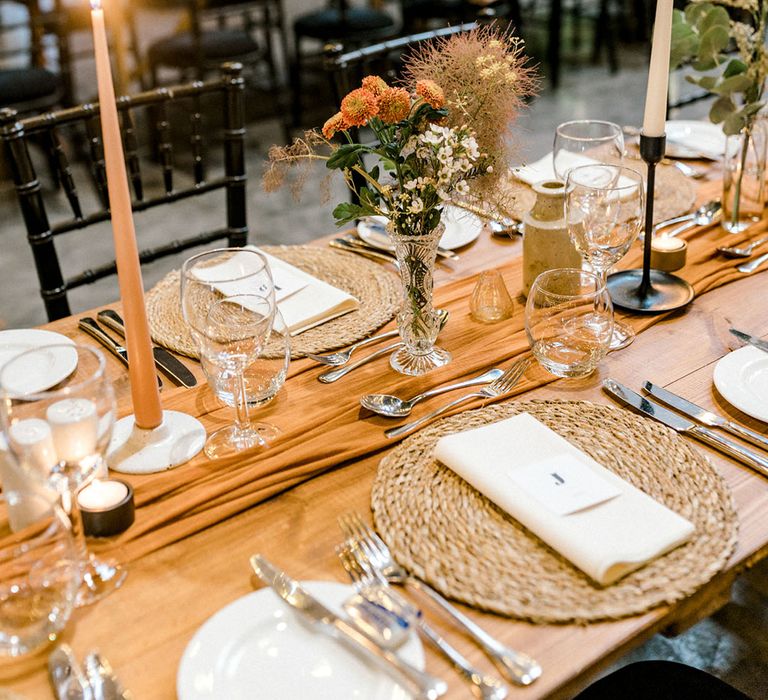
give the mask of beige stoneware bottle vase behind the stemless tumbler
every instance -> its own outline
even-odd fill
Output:
[[[523,215],[523,294],[547,270],[581,267],[581,255],[565,225],[565,185],[544,180],[533,186],[536,202]]]

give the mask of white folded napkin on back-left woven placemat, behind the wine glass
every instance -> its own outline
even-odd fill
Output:
[[[247,248],[258,251],[267,259],[275,285],[277,308],[280,309],[291,335],[298,335],[360,308],[360,302],[350,294],[259,250],[256,246]],[[247,294],[249,292],[243,289],[242,284],[218,283],[215,280],[226,279],[230,269],[234,273],[233,276],[242,275],[250,260],[249,255],[235,253],[220,265],[206,267],[195,274],[199,279],[213,281],[213,286],[223,294]],[[258,294],[263,291],[265,290],[254,289],[251,293]]]

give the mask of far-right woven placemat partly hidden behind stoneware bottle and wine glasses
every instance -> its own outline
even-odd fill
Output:
[[[637,170],[645,177],[646,165],[641,160],[626,158],[623,165]],[[502,186],[510,195],[509,211],[504,212],[513,219],[522,219],[536,202],[536,193],[525,182],[510,176]],[[690,178],[683,175],[674,165],[656,167],[656,194],[653,200],[653,220],[671,219],[691,210],[696,201],[696,187]]]

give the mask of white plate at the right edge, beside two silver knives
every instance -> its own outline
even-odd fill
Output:
[[[768,423],[768,353],[751,345],[734,350],[715,365],[713,379],[726,401]]]

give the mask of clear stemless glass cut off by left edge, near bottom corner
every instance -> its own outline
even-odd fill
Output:
[[[11,530],[8,509],[31,522]],[[27,654],[53,641],[80,586],[77,546],[64,511],[40,494],[10,491],[0,505],[0,656]]]

